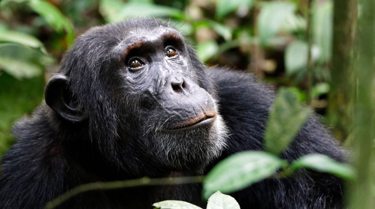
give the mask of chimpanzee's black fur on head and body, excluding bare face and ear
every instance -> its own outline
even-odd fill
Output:
[[[217,145],[221,151],[217,156],[209,150],[215,145],[190,136],[205,139],[205,133],[181,134],[180,138],[186,139],[182,145],[172,145],[176,142],[173,136],[154,133],[157,121],[152,120],[162,116],[152,117],[156,115],[152,108],[141,108],[145,101],[139,92],[127,91],[129,84],[117,85],[126,78],[115,73],[121,66],[114,60],[113,49],[130,33],[143,34],[160,27],[170,28],[153,19],[128,20],[93,28],[77,38],[59,74],[68,78],[66,89],[71,93],[69,100],[76,102],[71,105],[79,110],[79,120],[65,120],[44,103],[31,118],[15,125],[17,144],[2,158],[1,209],[40,209],[59,194],[88,182],[202,175],[233,153],[263,149],[273,93],[248,74],[207,69],[188,45],[189,78],[216,100],[226,128],[221,125],[222,132],[214,136],[224,137],[225,129],[226,146]],[[144,113],[145,109],[150,112]],[[151,121],[139,119],[147,114]],[[160,151],[161,146],[150,139],[160,143],[169,140],[164,146],[171,150]],[[197,147],[196,143],[202,145]],[[183,148],[196,150],[190,150],[191,155],[176,150]],[[345,151],[315,116],[309,118],[282,157],[292,161],[309,153],[322,153],[337,161],[345,157]],[[174,159],[180,154],[187,160]],[[337,177],[301,170],[289,178],[263,180],[232,195],[242,209],[340,209],[341,187]],[[189,184],[83,193],[61,208],[146,209],[166,199],[204,206],[201,185]]]

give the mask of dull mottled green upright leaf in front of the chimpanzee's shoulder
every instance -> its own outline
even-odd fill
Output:
[[[298,103],[294,91],[280,88],[264,133],[265,150],[280,154],[293,141],[310,113],[309,108]]]

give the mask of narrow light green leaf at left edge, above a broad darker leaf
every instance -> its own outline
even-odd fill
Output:
[[[0,29],[0,42],[13,42],[27,47],[39,48],[44,53],[47,53],[46,48],[39,39],[24,32]]]

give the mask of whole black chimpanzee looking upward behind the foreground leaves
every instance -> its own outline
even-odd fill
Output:
[[[140,18],[79,36],[45,103],[14,126],[2,158],[1,209],[40,209],[95,181],[205,175],[223,158],[262,150],[273,93],[249,74],[207,68],[162,20]],[[282,153],[290,161],[346,152],[312,115]],[[242,209],[339,209],[337,177],[300,170],[232,193]],[[148,209],[175,199],[204,207],[201,185],[147,186],[82,193],[67,209]]]

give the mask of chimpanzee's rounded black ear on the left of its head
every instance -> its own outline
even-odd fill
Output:
[[[47,105],[62,118],[73,123],[86,118],[68,86],[68,78],[64,75],[59,74],[51,78],[47,83],[44,97]]]

